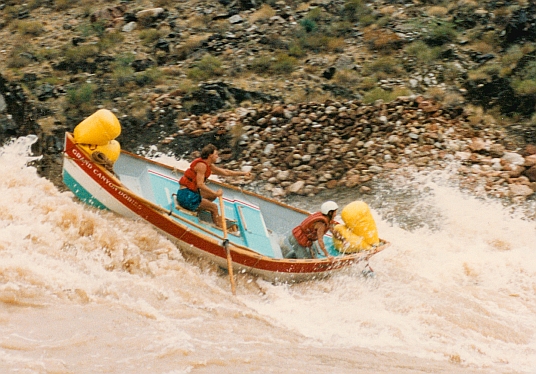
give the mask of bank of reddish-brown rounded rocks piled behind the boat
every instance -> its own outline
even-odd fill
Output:
[[[438,170],[456,162],[463,188],[514,200],[536,195],[535,146],[513,151],[500,130],[473,126],[461,108],[446,110],[420,96],[374,105],[273,103],[194,115],[161,145],[173,150],[182,138],[206,133],[231,139],[234,146],[223,153],[226,166],[251,168],[254,180],[276,197],[339,187],[371,193],[368,182],[409,166]]]

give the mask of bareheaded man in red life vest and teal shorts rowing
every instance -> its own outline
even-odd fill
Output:
[[[188,170],[179,180],[180,189],[177,191],[177,201],[180,206],[190,211],[207,210],[212,215],[214,224],[222,227],[218,206],[213,202],[223,195],[222,189],[211,190],[206,181],[212,173],[221,176],[246,176],[251,174],[245,171],[228,170],[214,165],[218,161],[218,150],[213,144],[206,145],[201,150],[201,157],[190,164]]]

